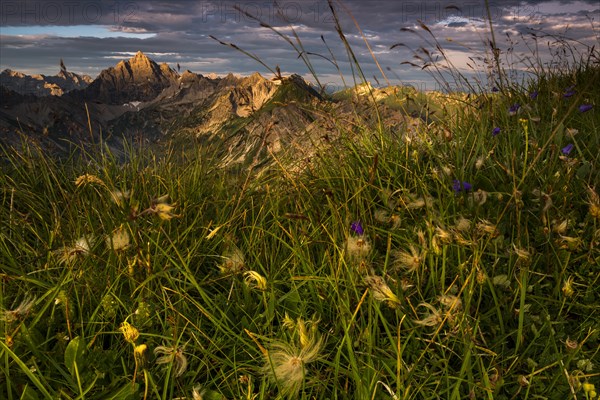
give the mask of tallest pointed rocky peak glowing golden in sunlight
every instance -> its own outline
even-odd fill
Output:
[[[158,65],[144,53],[116,66],[105,69],[83,91],[84,100],[105,104],[125,104],[132,101],[149,101],[165,88],[177,83],[179,74],[167,64]]]

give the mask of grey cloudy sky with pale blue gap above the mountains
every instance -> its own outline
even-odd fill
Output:
[[[362,71],[373,84],[387,80],[438,89],[435,79],[419,67],[429,57],[441,55],[436,47],[443,49],[455,71],[485,79],[490,47],[484,43],[489,43],[490,34],[483,0],[333,0],[333,4]],[[299,73],[314,81],[299,53],[246,13],[299,47],[296,34],[321,83],[339,87],[343,77],[353,84],[352,65],[327,0],[279,0],[277,5],[271,0],[3,0],[0,70],[54,75],[62,58],[68,70],[95,77],[142,50],[173,68],[179,63],[181,71],[220,75],[259,71],[271,76],[266,67],[212,35],[255,55],[273,70],[279,66],[284,74]],[[489,13],[505,67],[518,70],[523,60],[536,57],[544,63],[564,60],[556,57],[565,49],[561,43],[581,53],[600,44],[597,0],[491,0]],[[433,67],[443,65],[439,59]]]

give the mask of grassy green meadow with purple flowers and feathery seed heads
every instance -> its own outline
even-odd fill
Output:
[[[293,173],[2,148],[0,397],[597,398],[587,56]]]

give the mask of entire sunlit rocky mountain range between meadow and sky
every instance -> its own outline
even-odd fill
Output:
[[[0,77],[0,144],[33,140],[65,153],[100,138],[115,151],[123,140],[184,146],[196,140],[220,152],[224,165],[243,168],[264,165],[284,151],[309,157],[340,131],[375,120],[374,101],[390,128],[416,127],[444,111],[432,111],[411,88],[362,85],[323,96],[299,75],[179,74],[142,52],[94,80],[67,72],[62,62],[53,77],[10,70]]]

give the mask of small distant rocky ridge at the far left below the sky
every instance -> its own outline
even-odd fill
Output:
[[[62,96],[71,90],[84,89],[91,82],[91,77],[69,72],[64,64],[54,76],[27,75],[10,69],[0,73],[0,86],[22,95]]]

